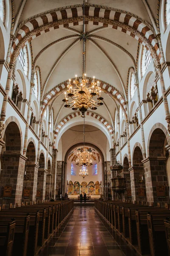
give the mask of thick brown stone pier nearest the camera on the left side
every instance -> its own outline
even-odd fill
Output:
[[[11,186],[12,196],[11,199],[0,199],[0,204],[3,203],[8,206],[12,203],[14,207],[18,203],[20,206],[23,193],[24,167],[27,158],[22,154],[11,154],[8,151],[4,152],[2,157],[3,170],[1,172],[0,186]]]

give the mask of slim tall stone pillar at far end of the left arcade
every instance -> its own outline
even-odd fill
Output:
[[[53,158],[52,158],[52,189],[51,189],[51,194],[53,198],[56,198],[56,177],[57,177],[57,153],[58,150],[57,148],[53,148]]]

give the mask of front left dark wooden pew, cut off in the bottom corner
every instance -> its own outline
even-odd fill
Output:
[[[0,226],[0,252],[3,256],[11,256],[15,233],[15,221]]]

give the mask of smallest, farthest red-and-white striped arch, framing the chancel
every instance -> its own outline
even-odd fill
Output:
[[[66,122],[68,122],[69,120],[71,120],[77,116],[81,116],[80,111],[76,111],[76,112],[68,114],[56,125],[56,129],[54,132],[54,142],[55,142],[57,134],[59,133],[59,130],[62,128],[62,126],[65,125]],[[93,111],[87,111],[87,116],[94,117],[94,118],[98,119],[100,122],[102,122],[103,125],[105,125],[105,127],[108,129],[108,131],[111,135],[112,141],[113,141],[113,127],[103,116],[101,116],[98,113],[95,113]]]

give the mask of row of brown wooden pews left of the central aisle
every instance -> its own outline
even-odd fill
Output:
[[[36,256],[71,213],[74,200],[22,204],[0,210],[0,255]],[[1,254],[2,253],[2,254]]]

